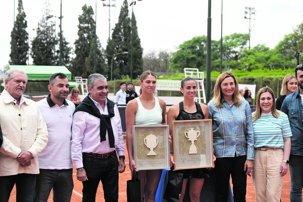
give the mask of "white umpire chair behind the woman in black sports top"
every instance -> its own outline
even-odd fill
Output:
[[[205,88],[204,88],[204,72],[200,72],[197,68],[184,68],[184,74],[186,77],[192,77],[196,80],[197,86],[197,94],[198,94],[198,102],[201,103],[203,99],[203,103],[206,104],[206,97],[205,97]],[[202,92],[202,97],[201,97]]]

